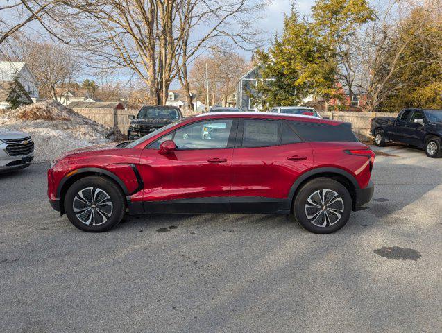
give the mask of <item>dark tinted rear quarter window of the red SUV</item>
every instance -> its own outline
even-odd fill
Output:
[[[305,142],[358,142],[349,123],[330,125],[328,123],[309,123],[287,121]]]

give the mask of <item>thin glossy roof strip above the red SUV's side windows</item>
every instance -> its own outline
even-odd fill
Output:
[[[227,117],[226,117],[227,116]],[[322,119],[314,116],[307,116],[305,114],[289,114],[289,113],[273,113],[273,112],[210,112],[198,114],[194,118],[266,118],[266,119],[287,119],[287,120],[300,120],[300,121],[312,121],[315,123],[330,123],[332,125],[338,125],[341,121],[334,121],[328,119]]]

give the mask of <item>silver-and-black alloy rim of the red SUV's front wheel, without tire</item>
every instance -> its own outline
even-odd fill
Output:
[[[78,191],[72,207],[78,220],[85,225],[105,223],[114,209],[109,194],[98,187],[87,187]]]

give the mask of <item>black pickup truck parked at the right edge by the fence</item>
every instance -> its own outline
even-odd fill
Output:
[[[428,157],[442,157],[442,110],[404,109],[397,118],[373,118],[371,133],[377,146],[398,142],[424,149]]]

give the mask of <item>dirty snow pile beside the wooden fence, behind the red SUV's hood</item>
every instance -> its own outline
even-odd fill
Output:
[[[77,148],[118,142],[118,128],[103,126],[56,101],[44,101],[0,114],[0,127],[29,133],[35,162],[51,161]]]

